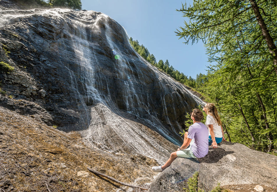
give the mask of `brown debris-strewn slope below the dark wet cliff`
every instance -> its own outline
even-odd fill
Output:
[[[84,145],[77,132],[66,134],[0,106],[0,191],[113,191],[127,189],[89,173],[87,167],[134,183],[152,178],[148,157],[103,153]]]

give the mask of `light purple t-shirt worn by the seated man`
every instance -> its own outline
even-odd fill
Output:
[[[205,124],[195,122],[189,126],[188,138],[193,139],[191,151],[197,158],[205,157],[209,151],[209,131]]]

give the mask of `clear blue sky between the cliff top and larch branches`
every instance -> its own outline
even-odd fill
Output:
[[[189,45],[178,39],[175,31],[184,26],[180,9],[184,1],[176,0],[81,0],[82,8],[102,12],[124,27],[129,37],[148,48],[157,61],[169,64],[188,77],[205,73],[209,65],[202,42]],[[187,5],[193,0],[186,0]]]

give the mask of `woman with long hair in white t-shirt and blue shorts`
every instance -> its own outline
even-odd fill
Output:
[[[203,107],[203,111],[207,114],[205,124],[209,128],[209,145],[212,145],[213,148],[217,148],[217,143],[220,143],[222,140],[226,141],[217,109],[214,104],[207,103]]]

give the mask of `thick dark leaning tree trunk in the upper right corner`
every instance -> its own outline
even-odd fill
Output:
[[[269,52],[273,56],[274,69],[275,69],[275,72],[276,72],[276,75],[277,75],[277,68],[276,68],[276,66],[277,66],[277,49],[276,49],[276,45],[274,44],[274,41],[273,41],[271,35],[269,34],[267,26],[264,23],[264,19],[262,18],[262,15],[260,13],[257,2],[255,0],[249,0],[249,1],[251,3],[252,9],[255,13],[258,24],[260,25],[260,29],[262,30],[262,35],[263,35],[265,41],[267,42]]]

